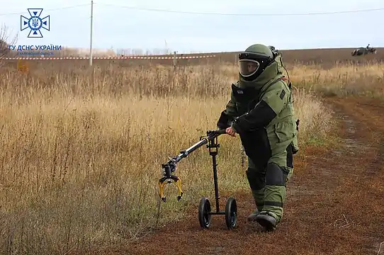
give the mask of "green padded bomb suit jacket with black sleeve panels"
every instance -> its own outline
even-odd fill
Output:
[[[272,157],[288,145],[292,145],[293,154],[299,149],[291,88],[283,76],[281,55],[275,60],[255,81],[240,78],[232,84],[230,101],[218,122],[219,128],[232,126],[240,136],[263,129]]]

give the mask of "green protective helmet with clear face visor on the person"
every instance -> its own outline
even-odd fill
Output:
[[[239,54],[239,74],[246,81],[253,81],[274,60],[270,47],[255,44]]]

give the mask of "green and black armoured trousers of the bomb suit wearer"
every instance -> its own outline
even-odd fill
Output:
[[[273,139],[266,130],[243,134],[240,138],[248,157],[247,179],[256,207],[259,212],[273,212],[280,222],[286,183],[293,174],[292,140],[276,135]]]

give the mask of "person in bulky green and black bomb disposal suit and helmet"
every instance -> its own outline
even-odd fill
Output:
[[[228,135],[239,134],[256,203],[248,220],[267,231],[275,230],[283,217],[286,183],[298,152],[298,123],[281,53],[271,46],[251,45],[239,54],[239,81],[232,84],[217,125]]]

